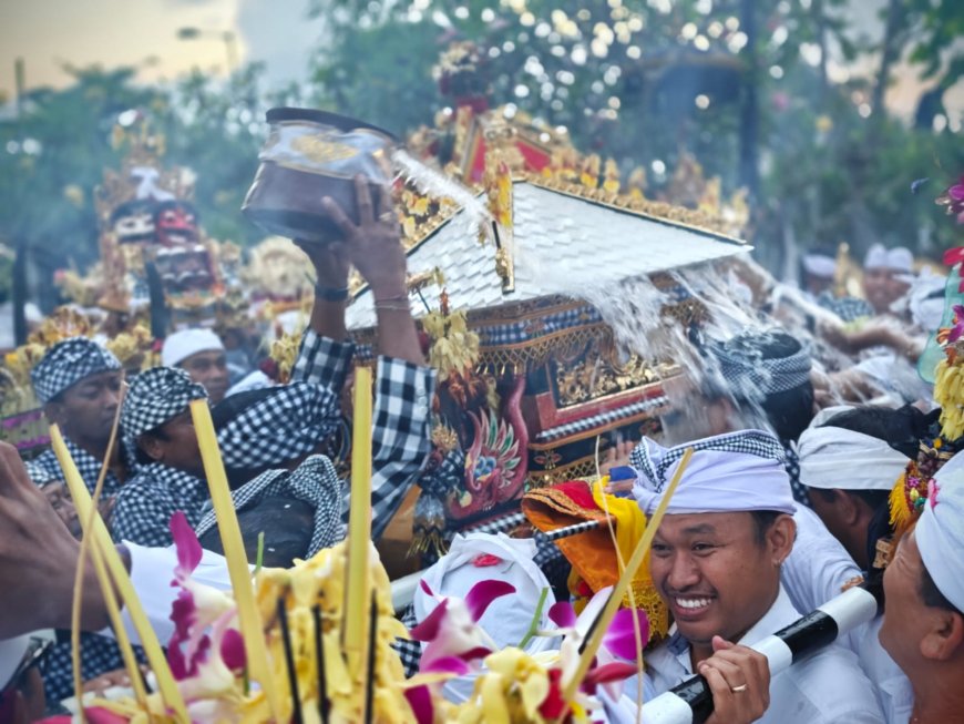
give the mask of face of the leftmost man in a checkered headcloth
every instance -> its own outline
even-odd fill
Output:
[[[121,402],[121,373],[98,373],[64,390],[57,402],[48,405],[54,422],[64,435],[84,446],[106,445]]]

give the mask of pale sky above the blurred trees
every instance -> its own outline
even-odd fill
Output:
[[[63,86],[61,65],[101,63],[140,67],[144,83],[171,81],[193,68],[224,74],[227,49],[221,38],[235,35],[238,60],[265,61],[268,81],[305,80],[309,52],[317,47],[320,21],[308,20],[310,0],[0,0],[0,95],[12,99],[13,63],[23,58],[27,88]],[[863,30],[882,31],[875,9],[882,0],[853,0]],[[947,1],[947,0],[945,0]],[[184,41],[177,29],[208,33]],[[964,42],[964,41],[962,41]],[[904,69],[888,92],[888,105],[904,118],[920,94],[915,71]],[[425,78],[425,83],[431,83]],[[951,129],[961,128],[964,81],[945,95]]]

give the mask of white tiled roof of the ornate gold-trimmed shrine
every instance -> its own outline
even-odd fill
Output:
[[[409,251],[409,274],[441,268],[453,309],[480,309],[639,277],[743,253],[750,246],[709,231],[642,216],[544,188],[513,184],[515,290],[503,294],[495,246],[480,245],[475,226],[459,213]],[[440,289],[422,290],[439,306]],[[424,307],[412,296],[416,316]],[[348,327],[375,326],[371,292],[348,308]]]

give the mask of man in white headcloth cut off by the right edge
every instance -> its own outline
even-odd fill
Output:
[[[880,642],[910,679],[915,724],[964,716],[962,550],[964,456],[957,455],[934,476],[916,527],[884,573]]]

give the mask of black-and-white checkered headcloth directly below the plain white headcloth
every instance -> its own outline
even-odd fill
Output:
[[[131,383],[121,410],[124,435],[136,440],[187,410],[192,400],[207,399],[207,390],[175,367],[154,367]]]

